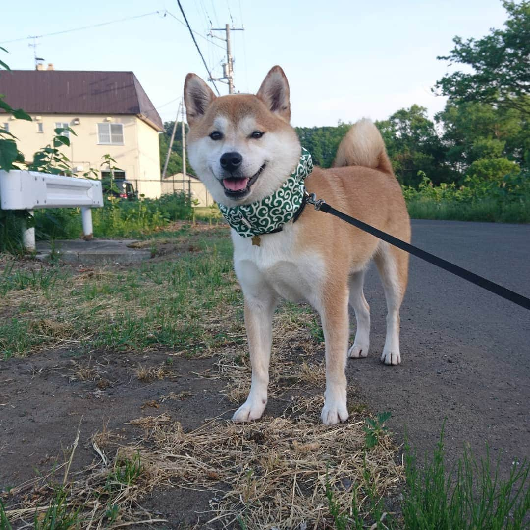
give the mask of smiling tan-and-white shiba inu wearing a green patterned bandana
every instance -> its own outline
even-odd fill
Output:
[[[289,125],[289,85],[279,66],[256,95],[216,97],[200,77],[188,74],[184,101],[189,160],[233,228],[234,267],[244,294],[252,380],[234,421],[256,420],[266,407],[272,314],[281,298],[306,301],[320,313],[326,351],[321,418],[326,425],[346,421],[346,359],[368,355],[365,269],[374,259],[388,308],[381,359],[396,365],[409,259],[340,219],[304,209],[301,193],[305,185],[334,208],[409,242],[407,208],[379,131],[368,120],[357,122],[333,167],[308,174],[311,163]],[[357,330],[348,349],[349,307]]]

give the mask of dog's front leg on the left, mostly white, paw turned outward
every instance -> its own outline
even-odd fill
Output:
[[[269,361],[272,346],[272,314],[277,299],[272,293],[260,298],[245,295],[245,327],[249,337],[252,380],[249,397],[234,414],[234,421],[261,418],[267,404]]]

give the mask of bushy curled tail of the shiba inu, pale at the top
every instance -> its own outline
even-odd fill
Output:
[[[381,133],[372,121],[365,118],[354,123],[342,138],[332,167],[352,165],[372,167],[394,174]]]

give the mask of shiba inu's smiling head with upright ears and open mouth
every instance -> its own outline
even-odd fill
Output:
[[[300,144],[289,125],[289,84],[273,67],[256,95],[217,98],[196,74],[184,83],[188,157],[212,197],[226,206],[275,192],[295,168]]]

